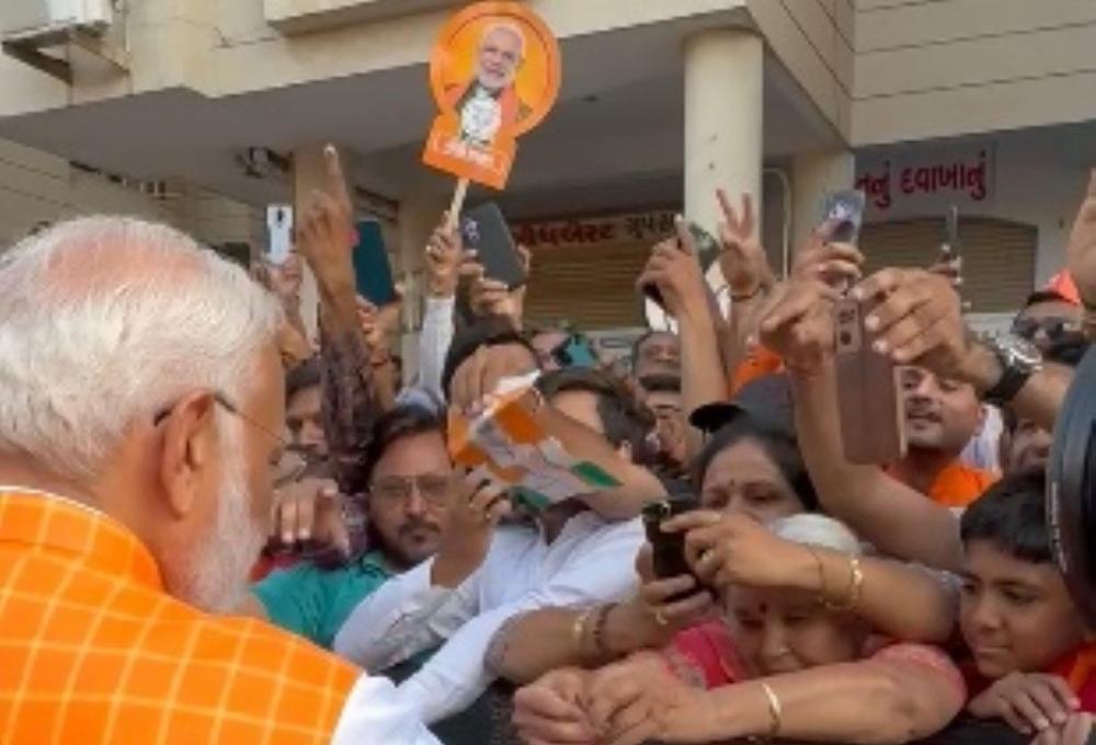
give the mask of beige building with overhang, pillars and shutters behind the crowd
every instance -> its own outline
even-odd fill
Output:
[[[420,161],[426,61],[460,4],[127,0],[100,39],[122,54],[42,49],[67,80],[3,58],[0,238],[107,209],[258,249],[264,205],[290,199],[288,159],[333,141],[413,291],[454,185]],[[931,263],[956,205],[980,313],[1063,263],[1096,163],[1092,0],[527,4],[560,38],[560,101],[506,192],[471,198],[533,243],[535,321],[641,323],[631,284],[665,216],[715,232],[719,186],[754,195],[777,267],[826,190],[867,192],[872,265]]]

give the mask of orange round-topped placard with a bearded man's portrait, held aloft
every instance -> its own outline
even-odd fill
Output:
[[[445,24],[431,54],[441,114],[423,162],[503,188],[517,138],[548,115],[559,84],[559,44],[536,13],[517,2],[469,5]]]

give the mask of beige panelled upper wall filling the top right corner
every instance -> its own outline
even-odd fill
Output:
[[[1093,0],[856,0],[855,32],[856,146],[1096,118]]]

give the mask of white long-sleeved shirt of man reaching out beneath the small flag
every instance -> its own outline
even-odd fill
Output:
[[[642,542],[639,519],[609,524],[592,512],[569,519],[550,545],[532,528],[499,528],[483,564],[455,589],[431,585],[433,560],[381,585],[339,630],[335,652],[376,672],[445,641],[397,689],[400,702],[436,722],[491,685],[483,660],[507,619],[630,597]]]

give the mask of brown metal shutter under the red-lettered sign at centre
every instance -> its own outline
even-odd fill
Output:
[[[591,331],[644,325],[636,279],[649,255],[650,245],[635,241],[534,249],[525,318]]]

